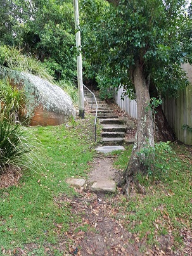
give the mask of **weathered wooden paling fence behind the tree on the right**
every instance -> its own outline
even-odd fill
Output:
[[[182,65],[188,72],[189,82],[192,84],[192,66]],[[118,89],[115,101],[131,117],[137,118],[137,103],[129,98],[121,99],[123,88]],[[192,145],[192,85],[179,91],[176,99],[165,99],[163,101],[163,111],[167,120],[176,133],[177,139],[184,144]],[[184,128],[184,129],[183,129]]]

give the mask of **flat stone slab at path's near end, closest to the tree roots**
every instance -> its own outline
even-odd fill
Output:
[[[115,193],[115,181],[96,181],[91,186],[91,190],[95,192]]]

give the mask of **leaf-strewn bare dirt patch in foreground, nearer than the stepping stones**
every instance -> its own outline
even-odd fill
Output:
[[[70,231],[61,238],[61,251],[67,249],[66,241],[70,241],[69,254],[64,255],[182,255],[172,252],[171,236],[159,237],[159,246],[150,249],[145,238],[140,240],[136,234],[127,231],[123,217],[126,212],[118,207],[120,191],[108,198],[80,190],[79,195],[82,197],[72,200],[62,195],[58,198],[59,203],[70,203],[73,214],[82,219],[82,222],[72,223]]]

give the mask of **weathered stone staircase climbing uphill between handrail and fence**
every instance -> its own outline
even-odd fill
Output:
[[[98,119],[99,123],[102,125],[101,132],[101,143],[103,146],[117,146],[125,143],[125,131],[127,128],[127,120],[125,118],[118,117],[110,108],[105,101],[102,101],[98,94],[96,95],[96,100],[98,102]],[[96,112],[96,104],[93,101],[92,104],[92,94],[89,91],[84,91],[84,97],[89,104],[92,106],[91,112]]]

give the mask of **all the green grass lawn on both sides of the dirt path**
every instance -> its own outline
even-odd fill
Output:
[[[36,151],[43,165],[23,171],[17,186],[0,189],[0,254],[16,255],[22,252],[18,251],[20,248],[27,255],[65,255],[54,245],[60,243],[61,236],[73,224],[74,233],[90,229],[97,232],[96,227],[93,230],[89,224],[81,224],[81,212],[72,212],[70,198],[78,194],[65,182],[68,177],[87,177],[89,173],[97,154],[93,150],[93,122],[93,117],[87,116],[77,120],[74,128],[66,125],[29,128],[41,141],[42,146]],[[164,252],[161,245],[165,246],[165,240],[171,240],[167,242],[167,246],[171,245],[167,250],[181,252],[185,246],[182,238],[191,229],[192,150],[178,143],[171,146],[176,155],[167,155],[169,171],[164,170],[154,179],[139,177],[146,195],[136,193],[133,188],[128,200],[119,191],[105,198],[115,209],[113,219],[133,234],[130,243],[138,243],[143,254],[148,248]],[[124,170],[130,154],[131,146],[116,153],[114,166]],[[61,196],[68,200],[58,203]]]

